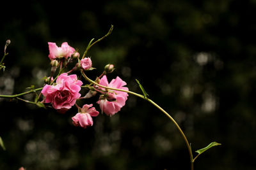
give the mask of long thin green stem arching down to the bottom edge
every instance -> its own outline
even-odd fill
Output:
[[[182,138],[184,139],[185,143],[186,143],[186,146],[188,148],[188,152],[189,152],[189,158],[190,158],[190,162],[191,162],[191,170],[194,169],[194,166],[193,166],[193,153],[191,151],[191,146],[189,145],[189,142],[188,142],[188,139],[186,138],[184,132],[182,131],[182,129],[180,129],[179,125],[177,124],[177,122],[165,111],[163,110],[163,108],[161,108],[158,104],[154,103],[154,101],[152,101],[151,99],[148,99],[148,98],[145,98],[143,95],[141,94],[137,94],[135,92],[131,92],[131,91],[127,91],[127,90],[123,90],[123,89],[115,89],[115,88],[112,88],[112,87],[106,87],[104,85],[100,85],[99,83],[96,83],[95,81],[93,80],[90,80],[90,78],[88,78],[86,76],[86,74],[84,74],[83,71],[81,71],[81,74],[83,75],[83,77],[89,81],[90,83],[93,83],[94,85],[97,85],[99,87],[102,87],[102,88],[105,88],[105,89],[110,89],[110,90],[118,90],[118,91],[121,91],[121,92],[127,92],[129,94],[133,94],[134,96],[137,96],[137,97],[141,97],[142,99],[145,99],[147,100],[149,103],[153,104],[154,106],[156,106],[156,108],[158,108],[160,111],[162,111],[164,113],[164,115],[166,115],[168,118],[170,118],[170,120],[172,120],[172,122],[175,124],[175,126],[177,127],[177,129],[179,130]]]

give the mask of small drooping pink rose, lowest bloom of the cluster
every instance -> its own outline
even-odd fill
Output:
[[[99,115],[99,111],[95,110],[95,108],[92,107],[92,104],[84,104],[80,112],[72,117],[72,120],[75,126],[81,126],[84,129],[93,125],[92,117],[97,117]]]

